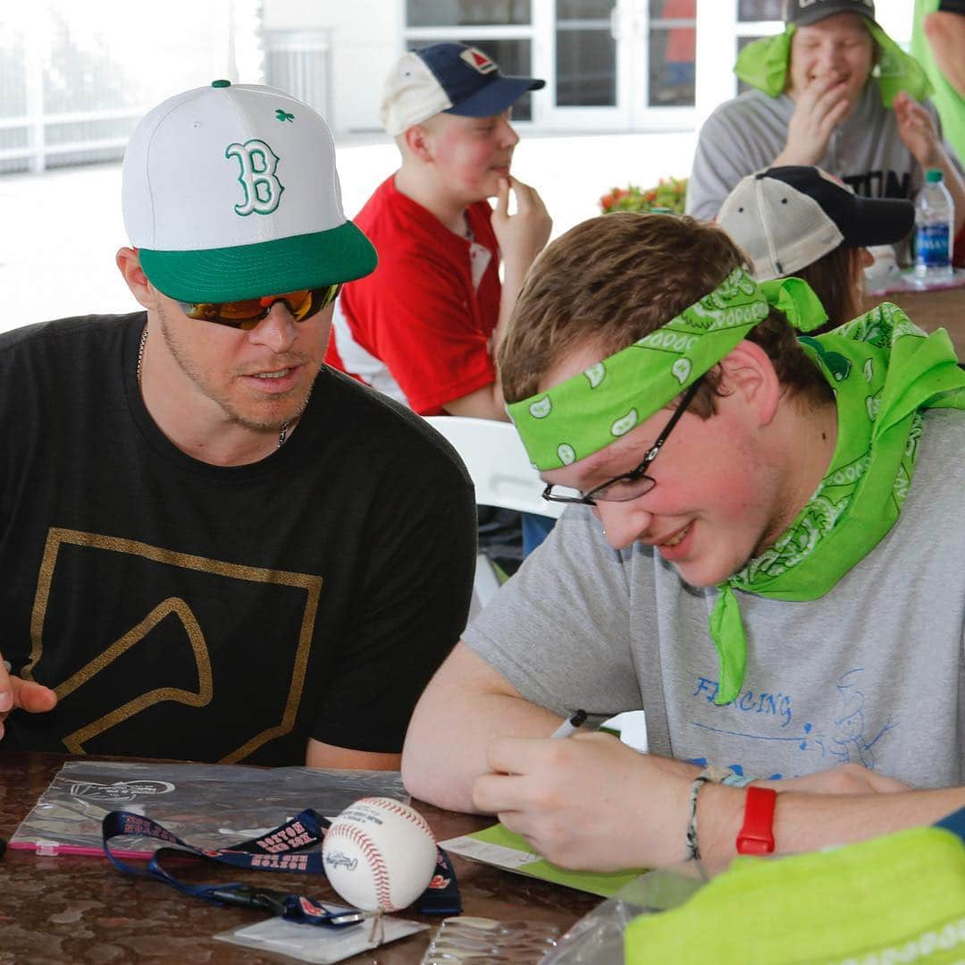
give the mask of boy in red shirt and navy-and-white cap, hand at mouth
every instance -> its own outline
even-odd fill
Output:
[[[381,116],[401,166],[355,218],[378,267],[343,289],[329,364],[423,415],[506,419],[495,354],[551,227],[536,190],[510,175],[510,111],[543,84],[462,43],[400,58]]]

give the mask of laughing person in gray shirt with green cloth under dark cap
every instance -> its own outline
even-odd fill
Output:
[[[687,213],[713,218],[741,178],[767,167],[816,164],[858,194],[896,198],[913,198],[938,168],[959,234],[965,182],[924,100],[931,85],[877,24],[872,0],[786,0],[785,22],[741,51],[734,71],[752,89],[701,128]]]

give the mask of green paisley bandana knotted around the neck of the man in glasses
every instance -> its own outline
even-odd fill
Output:
[[[944,329],[925,335],[896,305],[816,338],[803,336],[835,390],[838,440],[813,497],[770,549],[717,588],[710,636],[720,660],[719,704],[739,693],[747,640],[734,590],[816,600],[895,525],[915,471],[925,409],[965,409],[965,372]]]

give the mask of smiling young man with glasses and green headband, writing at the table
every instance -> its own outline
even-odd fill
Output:
[[[402,771],[563,866],[727,858],[758,782],[778,851],[965,803],[936,789],[962,783],[965,373],[895,306],[798,339],[813,293],[744,263],[688,217],[584,222],[500,355],[574,504],[429,684]],[[546,740],[576,708],[644,708],[649,752]]]

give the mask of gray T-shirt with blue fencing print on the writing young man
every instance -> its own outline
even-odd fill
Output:
[[[615,552],[589,508],[567,509],[464,639],[559,714],[647,710],[651,752],[795,777],[847,762],[915,786],[963,781],[965,412],[924,419],[896,525],[818,600],[738,591],[740,695],[713,703],[715,589],[651,547]]]

